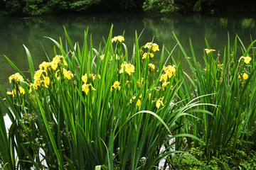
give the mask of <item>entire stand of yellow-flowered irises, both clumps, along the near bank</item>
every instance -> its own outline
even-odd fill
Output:
[[[228,169],[237,165],[234,155],[255,159],[250,149],[255,145],[255,41],[245,48],[238,37],[233,46],[228,40],[220,58],[206,40],[201,64],[192,42],[188,57],[176,35],[178,60],[172,57],[174,49],[159,52],[153,42],[140,46],[137,32],[131,53],[122,35],[112,38],[112,28],[98,50],[88,30],[82,46],[66,30],[65,37],[65,45],[49,38],[55,57],[36,72],[25,47],[31,81],[6,57],[18,73],[9,77],[11,91],[0,86],[1,107],[12,122],[6,132],[1,113],[1,166],[153,169],[169,157],[166,164],[177,169]],[[154,55],[161,56],[158,66],[151,63]],[[181,55],[190,70],[181,67]],[[193,157],[171,156],[184,149]],[[254,163],[245,160],[238,166]]]

